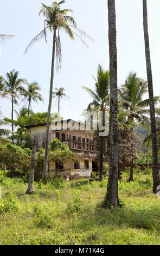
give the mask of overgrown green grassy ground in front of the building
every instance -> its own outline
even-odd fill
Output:
[[[27,196],[23,178],[0,172],[0,185],[0,245],[160,245],[160,202],[151,175],[136,174],[130,184],[123,178],[122,207],[110,210],[99,207],[107,179],[39,182]]]

